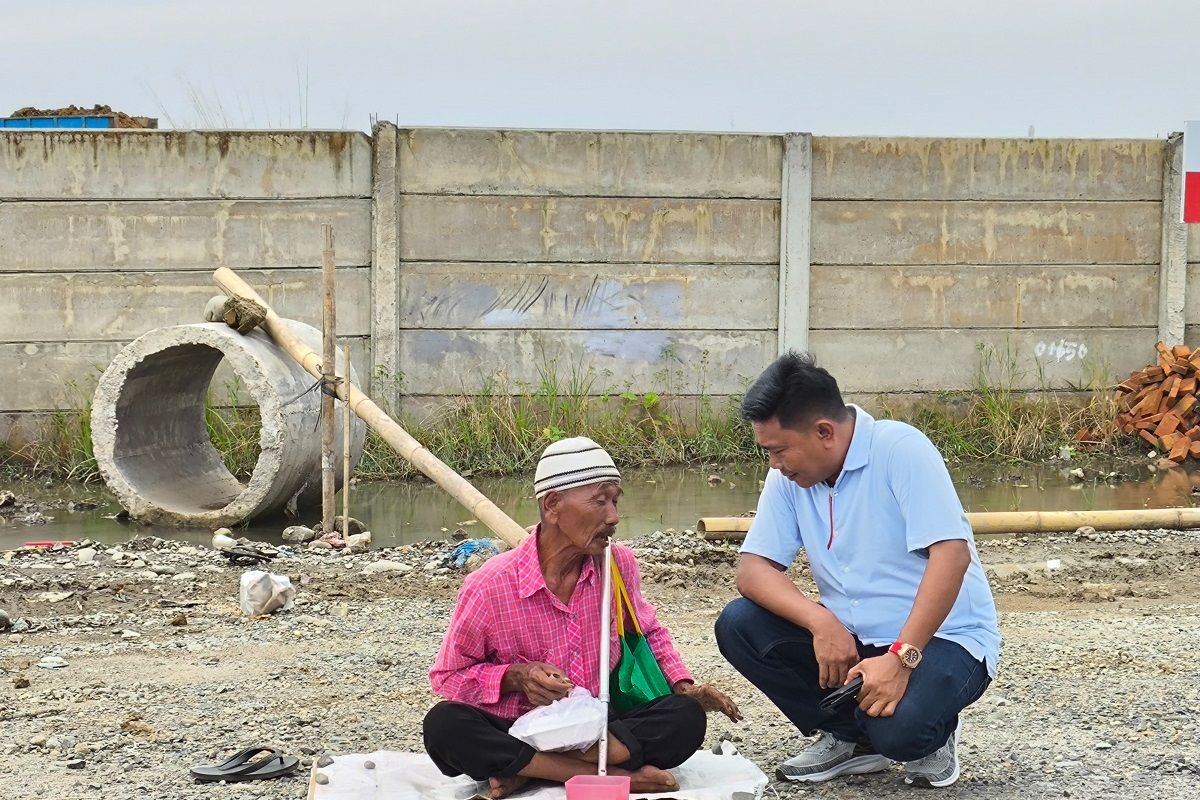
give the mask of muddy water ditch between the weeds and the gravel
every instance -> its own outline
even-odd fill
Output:
[[[1085,511],[1104,509],[1164,509],[1200,505],[1200,470],[1153,470],[1145,463],[1111,462],[1076,465],[952,464],[950,474],[967,511]],[[626,539],[654,530],[685,530],[704,516],[734,516],[755,507],[763,464],[709,468],[626,470],[620,501],[620,535]],[[522,524],[536,519],[530,481],[481,477],[475,485]],[[28,541],[116,543],[136,535],[154,535],[208,543],[210,531],[145,527],[120,521],[120,506],[102,487],[40,483],[0,485],[16,495],[0,507],[0,549]],[[0,494],[0,498],[5,495]],[[338,499],[338,513],[341,499]],[[350,491],[350,513],[374,534],[377,547],[416,541],[485,535],[449,495],[431,483],[371,482]],[[300,522],[313,523],[310,512]],[[288,521],[246,527],[239,535],[278,542]]]

